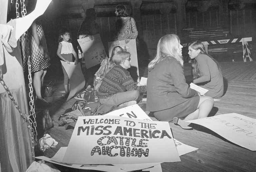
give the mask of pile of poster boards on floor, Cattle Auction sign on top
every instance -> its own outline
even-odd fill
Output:
[[[102,116],[81,116],[68,147],[52,158],[59,165],[100,171],[162,171],[162,162],[179,162],[197,150],[173,138],[168,122],[152,121],[137,105]]]

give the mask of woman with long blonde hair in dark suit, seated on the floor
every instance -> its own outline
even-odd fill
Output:
[[[182,47],[175,34],[159,40],[157,54],[148,65],[146,110],[160,121],[173,121],[183,129],[192,129],[186,121],[207,117],[214,101],[198,96],[186,83]]]

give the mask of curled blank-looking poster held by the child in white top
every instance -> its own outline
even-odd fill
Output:
[[[67,64],[67,62],[61,61],[61,65],[64,67],[69,78],[70,92],[67,98],[67,100],[69,100],[76,93],[78,93],[84,88],[85,79],[81,70],[80,63],[77,63],[75,65],[74,62],[70,62],[70,64]]]

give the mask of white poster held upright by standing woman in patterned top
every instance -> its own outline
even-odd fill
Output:
[[[130,72],[131,77],[135,82],[140,82],[136,40],[131,39],[127,44],[125,41],[108,42],[109,57],[111,57],[112,50],[115,46],[120,46],[124,49],[124,51],[127,51],[131,54],[131,68],[128,69],[128,71]]]

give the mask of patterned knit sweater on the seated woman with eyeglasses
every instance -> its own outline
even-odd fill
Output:
[[[120,65],[114,66],[103,78],[99,87],[98,97],[108,98],[115,93],[138,90],[146,93],[147,86],[137,86],[130,73]]]

